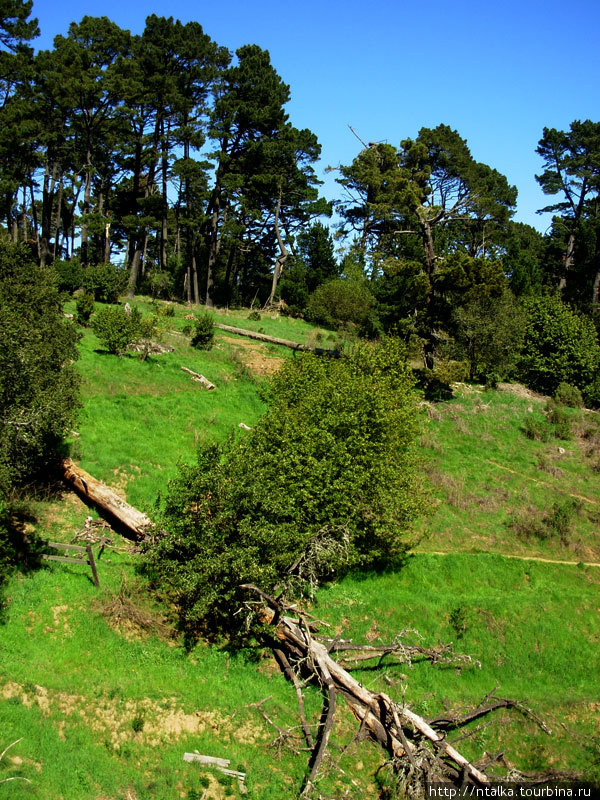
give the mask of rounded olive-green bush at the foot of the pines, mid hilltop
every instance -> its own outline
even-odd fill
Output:
[[[363,281],[333,278],[318,286],[308,300],[310,320],[331,328],[365,324],[373,306],[373,295]]]

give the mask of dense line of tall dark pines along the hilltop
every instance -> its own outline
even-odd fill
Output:
[[[600,123],[543,131],[545,235],[513,220],[516,188],[444,124],[364,144],[330,203],[317,138],[289,120],[267,51],[232,54],[197,22],[152,15],[135,35],[84,17],[34,54],[31,11],[7,0],[1,15],[0,218],[61,288],[282,299],[325,325],[393,331],[428,370],[463,363],[480,379],[533,380],[527,298],[597,327]],[[322,221],[334,206],[335,236]],[[581,388],[597,402],[593,344]]]

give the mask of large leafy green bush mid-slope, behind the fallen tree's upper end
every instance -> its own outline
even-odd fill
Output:
[[[341,569],[389,562],[411,543],[419,425],[398,341],[339,359],[298,356],[269,397],[251,431],[200,450],[169,486],[169,533],[148,562],[188,629],[241,624],[241,583],[293,594]]]

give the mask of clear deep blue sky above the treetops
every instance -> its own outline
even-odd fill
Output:
[[[86,14],[139,33],[152,13],[196,20],[230,50],[270,51],[290,85],[291,122],[322,145],[330,198],[337,186],[325,168],[361,148],[348,124],[365,141],[397,145],[445,123],[517,186],[515,219],[543,231],[549,219],[535,212],[550,201],[534,175],[544,126],[600,119],[600,0],[34,0],[42,32],[34,44],[51,47]]]

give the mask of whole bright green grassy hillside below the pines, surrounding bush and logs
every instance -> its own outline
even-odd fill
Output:
[[[169,328],[181,332],[187,313],[178,307]],[[317,341],[318,332],[299,321],[246,318],[230,312],[223,321]],[[295,357],[224,333],[208,353],[175,333],[165,339],[173,353],[141,362],[98,352],[85,332],[84,407],[72,440],[85,469],[150,514],[177,463],[192,460],[199,442],[232,430],[243,435],[239,423],[252,425],[263,408],[258,389],[265,374]],[[217,390],[203,391],[181,366],[203,373]],[[357,640],[391,641],[417,629],[427,643],[452,641],[481,663],[388,663],[355,673],[425,716],[498,687],[499,696],[526,700],[552,731],[503,713],[461,743],[467,756],[504,750],[507,763],[525,771],[551,766],[599,779],[600,569],[585,563],[600,561],[600,426],[598,415],[572,411],[568,433],[568,426],[547,422],[545,402],[523,390],[461,386],[451,401],[423,404],[421,444],[434,502],[420,522],[417,552],[397,572],[323,587],[314,613]],[[88,514],[95,517],[68,493],[38,501],[34,510],[32,526],[61,541]],[[307,754],[295,738],[293,691],[277,668],[264,654],[231,653],[226,643],[186,649],[167,624],[169,609],[153,605],[136,578],[128,543],[116,535],[113,542],[118,549],[99,561],[100,591],[83,566],[67,564],[18,575],[8,587],[0,626],[0,752],[23,739],[0,762],[0,780],[31,783],[0,783],[0,798],[239,796],[235,780],[183,762],[183,753],[195,749],[247,772],[249,797],[294,796]],[[514,555],[572,563],[507,557]],[[307,702],[316,720],[310,688]],[[296,752],[261,711],[281,729],[292,728]],[[319,787],[324,794],[377,796],[382,756],[356,742],[356,730],[341,713]]]

